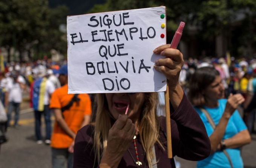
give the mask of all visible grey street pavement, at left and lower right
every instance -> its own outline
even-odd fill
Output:
[[[0,168],[50,168],[51,149],[45,144],[36,144],[34,114],[26,104],[22,104],[20,126],[8,129],[9,142],[1,146]],[[28,110],[24,110],[28,109]],[[54,118],[52,117],[52,123]],[[44,126],[42,134],[44,134]],[[256,168],[256,135],[250,145],[242,149],[245,168]],[[181,168],[194,168],[196,162],[176,158]]]

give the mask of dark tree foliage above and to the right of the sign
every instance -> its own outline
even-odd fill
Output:
[[[233,54],[238,55],[241,46],[247,48],[250,55],[256,51],[252,48],[256,44],[256,0],[107,0],[103,5],[95,5],[89,12],[161,5],[167,9],[167,35],[173,35],[178,23],[185,21],[184,33],[191,34],[188,27],[196,27],[195,37],[202,39],[202,42],[214,41],[216,36],[224,35],[227,50]]]

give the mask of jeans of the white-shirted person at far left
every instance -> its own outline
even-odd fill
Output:
[[[17,126],[19,115],[20,115],[20,103],[15,103],[14,101],[9,102],[8,112],[7,112],[7,126],[10,126],[12,110],[14,110],[15,112],[14,126]]]

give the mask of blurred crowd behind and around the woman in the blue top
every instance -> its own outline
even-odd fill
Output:
[[[240,93],[245,98],[241,109],[245,124],[250,133],[255,133],[255,114],[256,114],[256,59],[235,59],[227,58],[205,58],[202,60],[189,58],[182,67],[179,82],[187,93],[193,84],[191,80],[195,70],[202,67],[214,67],[220,74],[224,87],[224,97],[230,94]]]

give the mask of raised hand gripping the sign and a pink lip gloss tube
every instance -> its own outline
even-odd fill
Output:
[[[158,59],[154,67],[169,80],[169,89],[174,88],[179,83],[179,73],[184,64],[182,53],[177,49],[170,48],[170,46],[170,44],[161,45],[153,51],[155,54],[161,54],[165,57]]]

